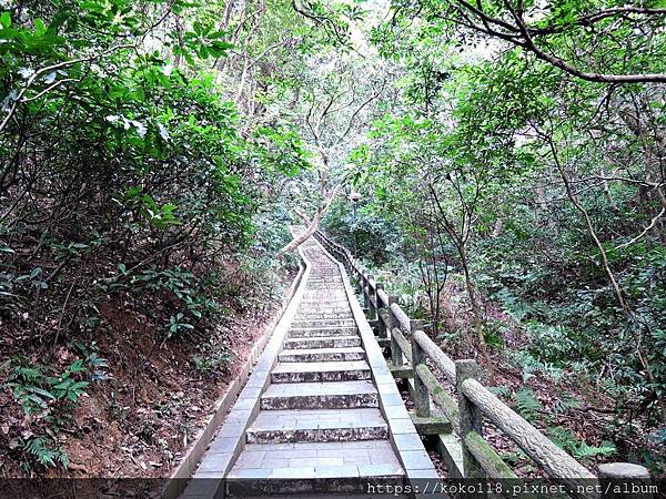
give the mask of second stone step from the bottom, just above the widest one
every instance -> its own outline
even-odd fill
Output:
[[[374,408],[262,410],[245,434],[248,444],[384,440],[389,425]]]

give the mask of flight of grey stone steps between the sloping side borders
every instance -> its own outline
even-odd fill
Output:
[[[314,242],[303,251],[312,272],[226,476],[232,496],[365,492],[404,479],[340,268]]]

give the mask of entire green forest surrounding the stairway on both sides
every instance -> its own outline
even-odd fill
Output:
[[[137,404],[164,348],[222,373],[216,325],[322,228],[567,451],[664,472],[665,27],[658,0],[0,1],[0,457],[67,469],[83,394]],[[125,315],[135,365],[98,345]]]

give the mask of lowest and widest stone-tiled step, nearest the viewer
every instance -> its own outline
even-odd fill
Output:
[[[236,497],[364,493],[369,485],[404,485],[389,440],[248,444],[226,477]]]

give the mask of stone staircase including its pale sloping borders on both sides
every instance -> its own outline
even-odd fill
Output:
[[[346,276],[314,240],[301,252],[300,297],[194,475],[221,485],[184,497],[367,497],[436,478]]]

